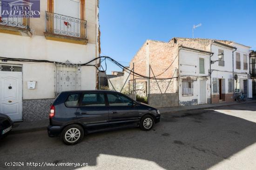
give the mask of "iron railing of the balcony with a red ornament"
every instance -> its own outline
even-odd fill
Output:
[[[46,11],[46,33],[71,38],[87,38],[86,20]]]

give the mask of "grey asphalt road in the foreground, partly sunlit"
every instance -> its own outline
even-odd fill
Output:
[[[13,162],[24,166],[5,165]],[[0,141],[0,169],[255,170],[256,103],[163,114],[151,131],[99,132],[74,146],[46,131],[9,135]]]

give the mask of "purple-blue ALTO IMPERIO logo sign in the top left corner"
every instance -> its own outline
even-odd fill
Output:
[[[0,0],[1,18],[40,18],[40,0]]]

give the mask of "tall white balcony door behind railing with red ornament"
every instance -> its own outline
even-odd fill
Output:
[[[54,34],[80,37],[80,0],[54,0]]]

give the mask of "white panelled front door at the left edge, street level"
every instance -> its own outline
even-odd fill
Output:
[[[22,73],[0,72],[0,113],[22,120]]]

